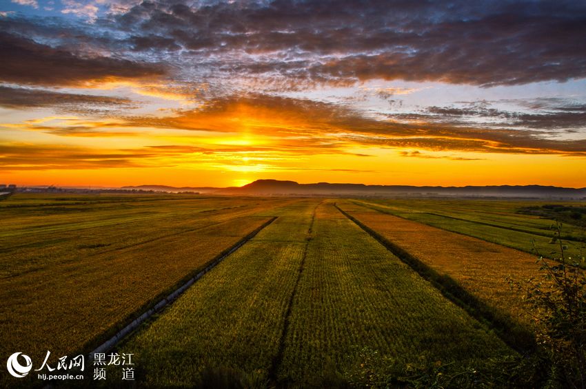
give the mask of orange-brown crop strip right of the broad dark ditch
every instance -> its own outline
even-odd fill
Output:
[[[340,202],[339,207],[407,260],[413,257],[430,268],[432,280],[489,318],[510,344],[519,348],[530,344],[532,316],[505,278],[521,281],[535,275],[539,265],[534,256],[356,204]]]

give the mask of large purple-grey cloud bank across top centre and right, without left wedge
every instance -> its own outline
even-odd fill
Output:
[[[141,34],[143,50],[221,55],[228,72],[485,86],[586,76],[586,7],[575,1],[154,1],[116,23]]]

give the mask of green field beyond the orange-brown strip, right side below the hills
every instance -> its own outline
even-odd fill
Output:
[[[524,207],[564,204],[584,207],[584,202],[545,202],[518,200],[356,200],[357,204],[383,213],[430,226],[473,236],[513,249],[559,257],[560,247],[552,242],[555,220],[520,213]],[[586,229],[561,220],[566,254],[580,266],[586,266]],[[576,222],[577,223],[577,222]]]

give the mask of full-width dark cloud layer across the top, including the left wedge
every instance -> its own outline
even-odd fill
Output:
[[[157,76],[163,70],[153,59],[172,65],[184,81],[259,76],[285,89],[371,78],[491,86],[586,77],[586,3],[580,1],[120,4],[116,14],[85,29],[4,18],[2,49],[14,52],[3,61],[4,79],[57,85]],[[100,52],[117,58],[95,56]],[[41,63],[51,69],[44,77]]]

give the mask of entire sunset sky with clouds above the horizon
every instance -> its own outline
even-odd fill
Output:
[[[0,0],[0,183],[586,187],[584,1]]]

